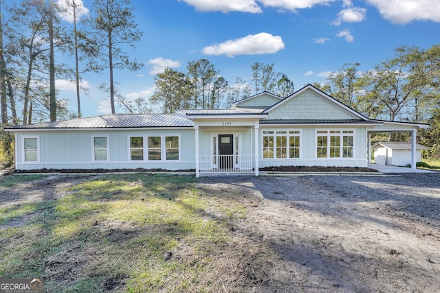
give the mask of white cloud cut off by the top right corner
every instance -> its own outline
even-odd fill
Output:
[[[367,0],[375,6],[380,14],[392,23],[409,23],[410,21],[440,22],[439,0]]]

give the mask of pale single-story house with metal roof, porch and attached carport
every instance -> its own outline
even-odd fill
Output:
[[[263,92],[229,109],[113,114],[10,126],[16,169],[195,169],[253,173],[259,167],[366,167],[371,133],[426,124],[369,119],[311,84],[286,98]]]

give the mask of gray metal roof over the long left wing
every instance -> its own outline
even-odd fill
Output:
[[[111,114],[96,117],[53,121],[39,124],[9,126],[5,129],[43,128],[148,128],[148,127],[192,127],[194,122],[185,115],[175,114]]]

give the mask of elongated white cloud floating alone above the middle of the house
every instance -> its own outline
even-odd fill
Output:
[[[281,36],[272,36],[272,34],[261,32],[204,47],[203,54],[234,57],[235,55],[273,54],[281,49],[284,49]]]

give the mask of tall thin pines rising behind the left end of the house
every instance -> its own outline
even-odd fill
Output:
[[[29,124],[81,117],[80,92],[85,72],[109,73],[111,110],[120,95],[115,89],[115,69],[142,67],[125,49],[142,37],[130,0],[94,0],[85,10],[77,0],[0,0],[0,106],[2,124]],[[71,23],[62,17],[73,19]],[[75,67],[55,60],[70,57]],[[55,80],[76,85],[78,111],[72,113],[65,99],[57,99]],[[48,86],[49,85],[49,86]]]

